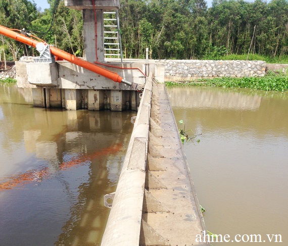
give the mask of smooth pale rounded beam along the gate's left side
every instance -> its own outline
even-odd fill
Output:
[[[151,86],[152,81],[148,81]],[[143,103],[144,99],[148,105]],[[101,245],[139,245],[146,177],[151,90],[145,88]],[[146,119],[146,120],[142,120]]]

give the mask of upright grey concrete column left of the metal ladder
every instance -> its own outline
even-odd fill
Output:
[[[83,10],[83,36],[86,60],[93,62],[96,60],[95,49],[95,15],[94,10]],[[97,54],[98,61],[104,61],[104,17],[103,10],[96,10],[97,21]]]

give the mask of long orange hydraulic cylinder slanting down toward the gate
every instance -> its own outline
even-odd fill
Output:
[[[32,39],[32,38],[29,38],[23,34],[20,34],[20,33],[17,33],[17,32],[14,32],[12,31],[11,29],[7,28],[7,27],[4,27],[4,26],[1,26],[0,25],[0,34],[4,35],[4,36],[7,36],[9,38],[13,38],[19,42],[22,42],[22,43],[25,43],[27,45],[30,45],[34,48],[36,48],[36,45],[38,43],[43,43],[46,45],[46,43],[44,42],[39,42],[39,41],[36,41],[35,39]],[[70,63],[73,63],[75,65],[78,65],[84,69],[87,69],[91,72],[94,72],[96,74],[99,74],[99,75],[102,75],[110,80],[113,80],[114,82],[118,82],[118,83],[124,83],[126,85],[129,85],[129,86],[133,86],[134,83],[131,83],[129,81],[126,81],[124,80],[121,76],[119,76],[117,73],[113,73],[107,69],[104,69],[100,66],[97,66],[95,64],[92,64],[92,63],[89,63],[89,61],[86,61],[86,60],[82,60],[78,57],[76,57],[75,55],[72,55],[72,54],[69,54],[61,49],[58,49],[58,48],[55,48],[55,47],[52,47],[50,46],[50,50],[51,50],[51,54],[55,55],[55,56],[58,56],[59,58],[61,59],[64,59],[64,60],[67,60],[67,61],[70,61]],[[134,86],[133,86],[134,87]]]

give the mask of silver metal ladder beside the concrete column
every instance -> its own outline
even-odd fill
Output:
[[[118,10],[104,12],[104,57],[123,60]]]

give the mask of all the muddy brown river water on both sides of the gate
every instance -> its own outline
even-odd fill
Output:
[[[277,243],[266,234],[288,245],[288,94],[168,94],[176,120],[202,134],[184,149],[207,229],[230,236],[212,245]],[[0,85],[0,245],[100,245],[134,115],[35,108],[31,91]]]

